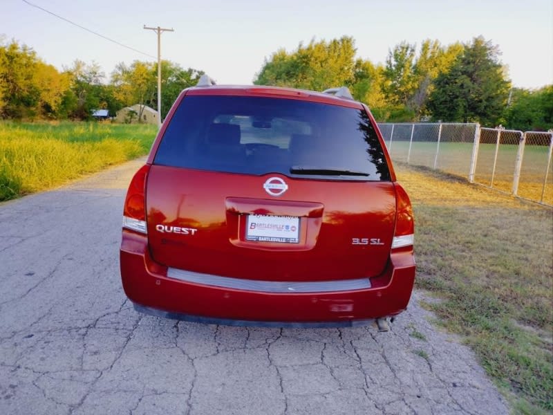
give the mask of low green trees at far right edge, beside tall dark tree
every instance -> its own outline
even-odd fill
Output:
[[[505,111],[505,126],[521,131],[553,129],[553,85],[537,91],[515,89]]]

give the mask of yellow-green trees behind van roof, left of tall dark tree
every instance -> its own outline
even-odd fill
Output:
[[[386,66],[355,58],[355,41],[341,37],[330,42],[299,44],[291,53],[273,53],[254,84],[290,86],[322,91],[346,85],[356,100],[365,102],[379,121],[412,121],[427,113],[426,102],[439,73],[449,70],[461,44],[444,48],[437,40],[415,45],[402,42],[388,53]]]

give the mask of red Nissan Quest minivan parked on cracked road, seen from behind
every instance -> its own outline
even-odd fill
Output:
[[[137,311],[180,320],[367,324],[409,303],[413,232],[377,124],[346,88],[204,76],[129,185],[122,284]]]

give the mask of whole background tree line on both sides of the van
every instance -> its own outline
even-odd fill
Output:
[[[380,122],[480,122],[486,126],[547,130],[553,127],[553,85],[513,89],[497,46],[476,37],[443,46],[427,39],[401,42],[384,64],[356,56],[355,39],[312,40],[265,59],[254,84],[322,91],[348,86]],[[162,61],[162,117],[182,89],[203,71]],[[157,108],[156,62],[118,64],[109,79],[100,67],[75,61],[58,71],[15,41],[0,44],[0,118],[91,118],[95,109],[133,104]]]

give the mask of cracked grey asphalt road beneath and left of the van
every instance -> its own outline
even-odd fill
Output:
[[[380,333],[136,313],[119,275],[144,159],[0,203],[0,414],[508,414],[415,291]]]

